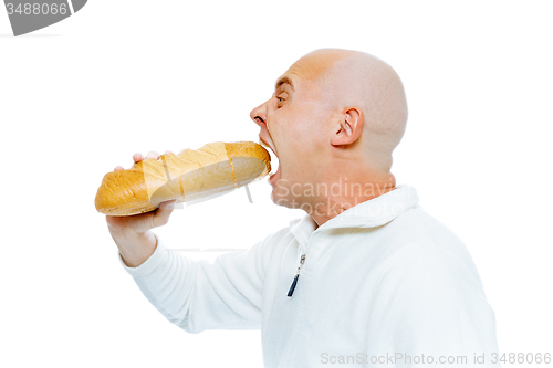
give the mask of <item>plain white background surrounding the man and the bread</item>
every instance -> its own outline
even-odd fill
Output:
[[[257,140],[249,112],[319,48],[387,61],[409,103],[399,183],[466,243],[501,353],[553,353],[549,1],[90,1],[13,38],[0,9],[2,367],[262,365],[259,332],[187,334],[94,208],[132,155]],[[171,248],[244,248],[303,215],[250,186],[178,210]],[[213,257],[217,253],[182,253]]]

